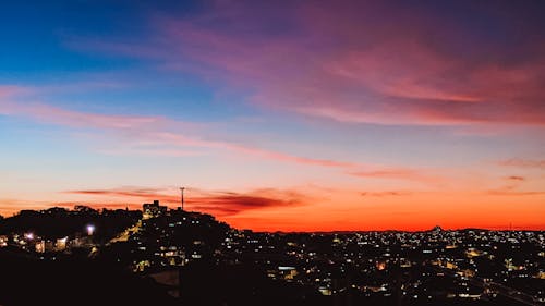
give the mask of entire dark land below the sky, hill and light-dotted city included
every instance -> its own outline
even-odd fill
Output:
[[[545,232],[263,233],[75,206],[1,219],[0,269],[5,306],[545,305]]]

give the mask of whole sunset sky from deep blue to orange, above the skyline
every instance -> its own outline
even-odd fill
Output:
[[[0,215],[545,230],[542,1],[5,1]]]

